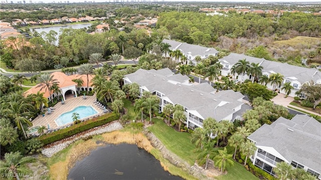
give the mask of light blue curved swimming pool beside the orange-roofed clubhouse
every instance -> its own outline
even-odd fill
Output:
[[[79,114],[79,119],[98,114],[98,112],[92,106],[78,106],[72,111],[61,114],[57,119],[55,119],[56,124],[58,126],[62,126],[71,123],[73,121],[72,114],[74,112],[77,112]]]

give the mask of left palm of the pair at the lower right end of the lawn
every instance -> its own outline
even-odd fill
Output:
[[[214,148],[215,140],[204,142],[203,148],[199,147],[194,150],[194,152],[199,153],[197,156],[199,164],[205,164],[205,169],[207,169],[208,162],[211,156],[214,156],[217,151]]]

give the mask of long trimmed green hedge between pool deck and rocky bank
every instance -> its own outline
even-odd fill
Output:
[[[75,135],[79,132],[83,132],[85,130],[91,129],[93,127],[97,127],[103,124],[106,124],[108,122],[117,120],[119,118],[119,115],[112,112],[112,113],[108,113],[99,117],[95,117],[92,119],[89,119],[87,121],[83,121],[81,123],[72,125],[70,127],[64,128],[64,129],[60,129],[45,135],[42,135],[40,137],[38,137],[38,139],[44,144],[49,144],[52,142],[55,142],[57,140],[66,138],[66,137],[70,137],[72,135]]]

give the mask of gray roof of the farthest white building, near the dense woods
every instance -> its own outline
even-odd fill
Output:
[[[207,48],[199,45],[192,45],[188,43],[181,43],[174,40],[163,40],[163,43],[168,43],[171,45],[172,50],[180,49],[185,54],[190,53],[192,56],[203,56],[209,54],[216,54],[218,51],[214,48]]]

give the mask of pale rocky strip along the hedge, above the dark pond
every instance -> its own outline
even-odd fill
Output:
[[[53,142],[51,144],[46,145],[43,150],[41,151],[42,154],[46,155],[47,157],[51,157],[55,153],[63,150],[64,148],[68,147],[71,143],[79,140],[79,139],[86,139],[88,137],[103,134],[105,132],[111,132],[115,130],[122,129],[122,125],[118,121],[113,121],[108,124],[94,127],[92,129],[86,130],[84,132],[75,134],[73,136],[67,137],[65,139]]]

